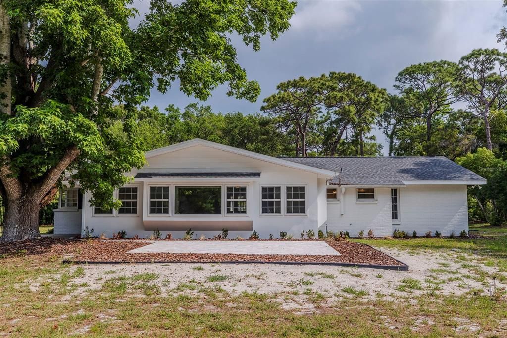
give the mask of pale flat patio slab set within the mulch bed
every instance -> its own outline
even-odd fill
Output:
[[[128,253],[340,255],[322,241],[160,241]]]

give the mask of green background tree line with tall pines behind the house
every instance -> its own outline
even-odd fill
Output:
[[[268,155],[443,155],[488,179],[470,189],[473,220],[506,220],[507,53],[476,49],[458,63],[414,64],[395,78],[393,92],[352,73],[280,83],[261,110],[243,115],[214,113],[191,104],[141,107],[141,148],[202,138]]]

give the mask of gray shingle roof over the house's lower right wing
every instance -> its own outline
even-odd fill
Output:
[[[401,185],[402,181],[483,181],[484,178],[444,156],[280,157],[340,172],[343,185]],[[338,176],[331,180],[338,184]]]

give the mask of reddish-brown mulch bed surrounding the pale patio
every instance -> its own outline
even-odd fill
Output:
[[[127,253],[149,242],[44,238],[0,246],[0,255],[64,256],[70,262],[305,262],[406,266],[372,247],[348,241],[326,241],[341,255],[244,255]]]

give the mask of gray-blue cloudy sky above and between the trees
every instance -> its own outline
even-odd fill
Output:
[[[142,13],[147,3],[136,7]],[[258,101],[228,97],[219,88],[203,104],[215,112],[255,113],[278,83],[332,71],[356,73],[392,91],[396,74],[411,64],[458,61],[480,47],[503,49],[496,43],[496,33],[507,22],[501,5],[500,0],[298,1],[291,28],[277,41],[263,39],[259,52],[241,41],[235,44],[239,64],[261,85]],[[176,83],[166,94],[152,92],[148,105],[183,108],[197,102],[177,88]],[[382,134],[375,134],[385,145]]]

